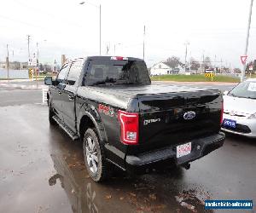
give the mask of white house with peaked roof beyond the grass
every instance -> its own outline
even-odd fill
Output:
[[[153,76],[166,74],[181,74],[183,72],[184,69],[182,66],[178,65],[176,68],[172,69],[172,67],[166,65],[166,63],[163,61],[154,64],[154,66],[152,66],[150,69],[150,74]]]

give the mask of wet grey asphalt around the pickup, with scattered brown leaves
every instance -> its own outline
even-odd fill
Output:
[[[27,101],[15,101],[19,95]],[[0,97],[0,212],[204,212],[204,199],[256,202],[256,141],[227,135],[190,170],[119,172],[99,184],[85,170],[81,143],[49,126],[41,90],[0,89]]]

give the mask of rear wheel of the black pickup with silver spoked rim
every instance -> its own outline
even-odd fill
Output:
[[[96,182],[106,180],[109,176],[109,164],[95,129],[85,131],[83,149],[84,163],[89,176]]]

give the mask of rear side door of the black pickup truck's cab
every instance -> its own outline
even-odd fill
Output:
[[[68,72],[66,86],[62,91],[62,110],[65,124],[76,131],[75,102],[84,60],[73,61]]]

